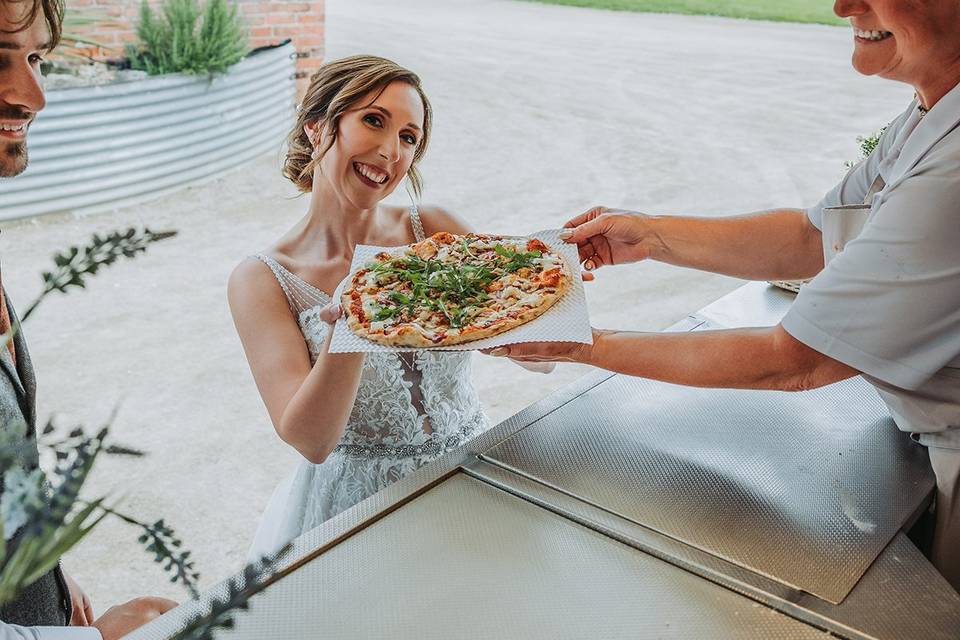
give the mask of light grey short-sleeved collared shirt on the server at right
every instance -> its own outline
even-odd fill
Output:
[[[898,426],[960,449],[960,85],[920,118],[916,102],[807,211],[862,202],[863,231],[798,294],[793,337],[862,371]]]

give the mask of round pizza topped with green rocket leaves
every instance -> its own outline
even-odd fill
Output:
[[[440,232],[378,253],[344,287],[347,325],[393,347],[440,347],[530,322],[570,289],[563,257],[533,238]]]

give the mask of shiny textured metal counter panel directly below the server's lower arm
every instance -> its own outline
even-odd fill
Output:
[[[787,393],[615,376],[482,457],[833,603],[933,487],[859,378]]]

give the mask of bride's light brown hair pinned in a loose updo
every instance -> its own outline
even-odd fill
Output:
[[[351,109],[362,108],[357,102],[370,92],[376,92],[369,104],[391,82],[405,82],[416,89],[423,102],[423,133],[413,155],[413,163],[407,171],[407,179],[414,193],[420,197],[423,179],[417,170],[417,163],[427,150],[430,140],[430,123],[433,111],[427,99],[420,77],[396,62],[377,56],[351,56],[323,65],[310,78],[310,86],[303,96],[303,102],[297,113],[297,123],[287,137],[287,157],[283,164],[283,175],[297,185],[303,192],[313,189],[313,171],[319,165],[324,154],[336,142],[340,118]],[[323,125],[323,131],[330,132],[327,143],[314,156],[313,145],[304,131],[309,122]]]

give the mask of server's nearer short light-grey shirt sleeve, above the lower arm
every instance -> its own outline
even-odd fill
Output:
[[[801,289],[793,337],[896,387],[960,354],[960,157],[935,149],[874,203],[864,230]]]

